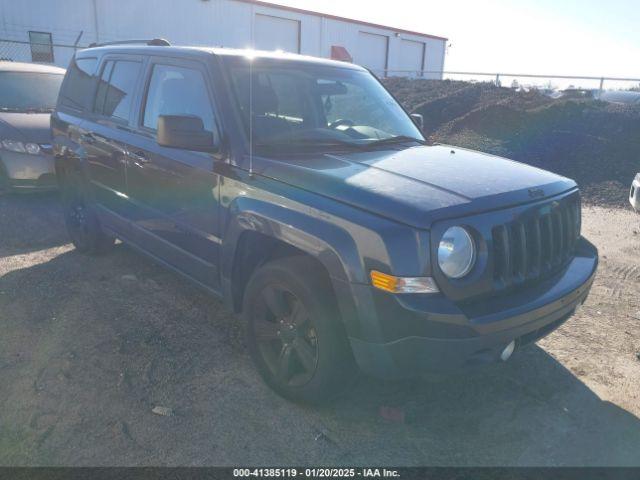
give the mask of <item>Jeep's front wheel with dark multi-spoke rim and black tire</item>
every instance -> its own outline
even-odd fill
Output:
[[[294,402],[332,400],[355,376],[335,297],[317,263],[273,260],[249,281],[243,302],[247,345],[264,381]]]

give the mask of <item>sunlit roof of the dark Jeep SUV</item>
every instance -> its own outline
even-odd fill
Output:
[[[351,63],[340,62],[337,60],[330,60],[327,58],[312,57],[309,55],[300,55],[296,53],[288,53],[283,51],[264,51],[253,49],[236,49],[226,47],[201,47],[201,46],[147,46],[147,45],[107,45],[96,46],[90,49],[82,50],[82,52],[89,53],[90,51],[104,51],[106,52],[118,52],[118,53],[131,53],[138,55],[197,55],[197,54],[209,54],[217,55],[220,57],[246,57],[246,58],[267,58],[273,60],[283,60],[292,62],[301,62],[317,65],[326,65],[339,68],[352,68],[361,70],[362,67]]]

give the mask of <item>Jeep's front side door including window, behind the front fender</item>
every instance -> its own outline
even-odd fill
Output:
[[[159,115],[195,115],[219,138],[210,73],[194,60],[151,58],[127,145],[133,240],[170,266],[218,289],[219,177],[209,153],[161,147]]]

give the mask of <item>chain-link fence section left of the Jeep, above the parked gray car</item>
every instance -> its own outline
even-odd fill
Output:
[[[0,39],[0,61],[33,62],[66,67],[78,45]]]

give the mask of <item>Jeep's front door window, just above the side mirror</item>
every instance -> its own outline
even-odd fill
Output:
[[[211,99],[207,94],[205,79],[199,70],[154,65],[142,124],[156,130],[160,115],[200,117],[205,130],[213,132]]]

